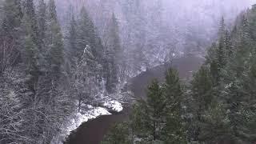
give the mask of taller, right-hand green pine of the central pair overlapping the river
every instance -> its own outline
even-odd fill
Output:
[[[178,71],[170,68],[164,84],[166,98],[166,126],[163,137],[166,143],[186,143],[185,126],[182,119],[182,86]]]

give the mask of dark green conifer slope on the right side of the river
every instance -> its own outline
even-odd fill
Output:
[[[240,14],[232,30],[224,18],[206,62],[184,85],[170,68],[138,100],[130,121],[118,123],[102,144],[256,142],[256,5]]]

